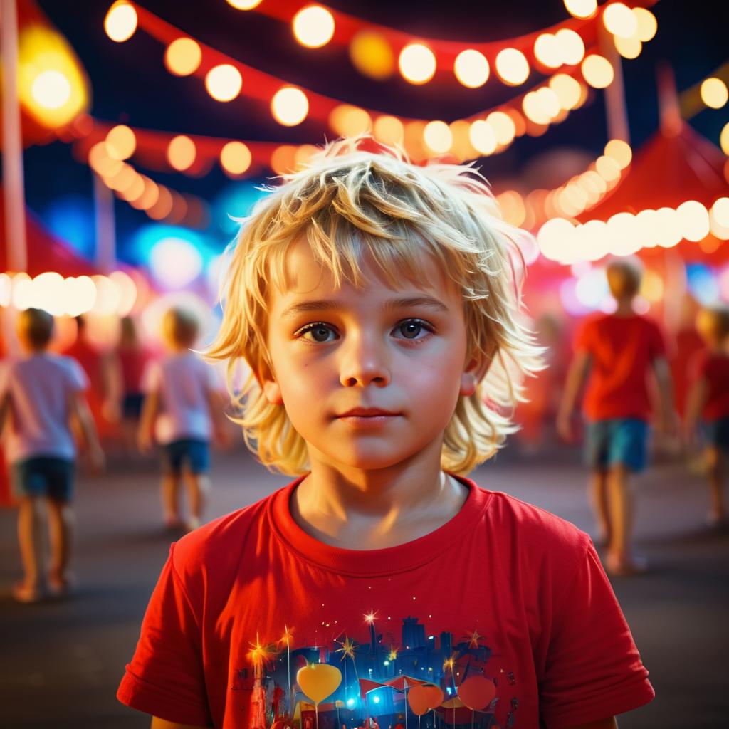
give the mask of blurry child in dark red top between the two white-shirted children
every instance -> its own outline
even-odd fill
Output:
[[[119,343],[104,359],[104,390],[107,394],[104,411],[112,422],[118,422],[125,451],[136,451],[136,436],[144,402],[142,375],[147,364],[147,351],[139,342],[136,324],[131,316],[120,321]]]

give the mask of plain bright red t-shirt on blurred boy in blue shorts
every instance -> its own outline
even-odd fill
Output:
[[[637,314],[601,314],[582,322],[574,349],[591,358],[582,402],[588,420],[650,419],[646,375],[652,362],[666,354],[658,324]]]

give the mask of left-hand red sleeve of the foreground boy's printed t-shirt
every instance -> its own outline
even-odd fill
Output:
[[[201,618],[174,568],[174,547],[149,600],[117,698],[170,722],[209,726]]]

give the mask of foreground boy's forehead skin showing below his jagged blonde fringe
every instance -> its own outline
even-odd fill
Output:
[[[384,243],[385,245],[387,243]],[[430,292],[440,297],[444,303],[461,303],[461,292],[445,275],[443,266],[425,250],[418,253],[418,280],[410,281],[405,275],[401,283],[394,286],[386,280],[382,270],[372,257],[365,253],[359,265],[362,285],[354,286],[349,281],[337,285],[335,276],[321,262],[316,260],[311,246],[304,238],[292,243],[284,261],[284,276],[281,285],[272,286],[274,300],[308,297],[326,294],[328,297],[354,295],[368,297],[389,295],[397,291]],[[448,300],[448,301],[446,301]]]

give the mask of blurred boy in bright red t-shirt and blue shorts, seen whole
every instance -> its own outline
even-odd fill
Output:
[[[628,480],[647,461],[650,371],[658,383],[659,429],[673,427],[675,417],[663,335],[655,322],[633,308],[641,278],[636,260],[616,259],[607,266],[617,308],[587,319],[577,331],[557,418],[558,432],[572,440],[572,411],[587,378],[582,406],[588,421],[585,461],[592,470],[590,491],[600,542],[607,545],[605,566],[614,575],[636,574],[647,567],[631,553],[634,509]]]

